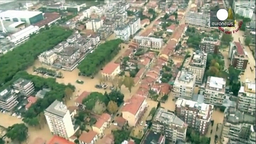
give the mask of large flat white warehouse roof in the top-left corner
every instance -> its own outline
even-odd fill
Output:
[[[0,13],[0,17],[4,18],[32,18],[42,12],[37,11],[22,11],[22,10],[6,10]]]

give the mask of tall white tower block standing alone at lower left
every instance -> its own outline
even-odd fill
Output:
[[[77,130],[74,128],[67,106],[60,101],[55,100],[44,110],[44,115],[49,129],[54,135],[68,139]]]

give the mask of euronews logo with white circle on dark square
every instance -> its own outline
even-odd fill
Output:
[[[228,10],[219,9],[218,11],[211,12],[210,26],[230,28],[234,27],[235,18],[231,7]]]

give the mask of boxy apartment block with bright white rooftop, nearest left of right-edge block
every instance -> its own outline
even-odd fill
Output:
[[[205,87],[205,103],[221,106],[225,98],[226,79],[208,76]]]

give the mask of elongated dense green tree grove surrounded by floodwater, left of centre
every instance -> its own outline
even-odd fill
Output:
[[[118,54],[121,49],[121,39],[106,41],[100,44],[96,50],[85,57],[84,60],[78,65],[79,74],[85,76],[93,76],[97,73],[106,63],[110,62],[113,57]]]

